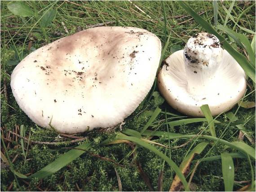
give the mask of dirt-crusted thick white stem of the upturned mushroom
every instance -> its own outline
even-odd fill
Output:
[[[183,56],[187,91],[193,96],[203,96],[206,91],[209,93],[222,61],[219,39],[209,33],[199,33],[188,40]]]

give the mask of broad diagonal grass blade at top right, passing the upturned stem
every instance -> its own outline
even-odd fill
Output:
[[[193,18],[196,22],[198,22],[203,28],[208,32],[213,35],[216,35],[218,39],[220,39],[220,42],[223,44],[223,48],[226,49],[227,52],[230,53],[232,57],[239,63],[239,65],[243,68],[245,73],[252,79],[252,81],[255,83],[255,69],[252,67],[250,62],[247,60],[245,56],[243,56],[241,53],[236,51],[226,40],[224,37],[219,35],[213,27],[203,19],[200,15],[194,12],[193,9],[191,9],[186,3],[183,1],[177,1],[178,4],[181,5],[183,9],[185,9]]]

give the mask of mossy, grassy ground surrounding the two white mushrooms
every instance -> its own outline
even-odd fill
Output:
[[[252,42],[255,35],[254,1],[186,3],[233,48],[249,57],[246,49],[234,40],[234,36],[230,37],[217,29],[217,24],[245,35]],[[181,124],[175,122],[176,126],[170,124],[189,117],[169,107],[156,86],[152,87],[134,113],[125,119],[124,124],[79,135],[63,135],[37,127],[18,107],[12,95],[10,74],[22,58],[56,39],[95,26],[134,26],[151,31],[161,39],[162,58],[168,57],[172,52],[182,49],[191,35],[205,31],[180,4],[175,1],[24,1],[20,9],[26,11],[22,16],[10,11],[13,9],[9,1],[1,1],[0,5],[1,191],[118,191],[120,184],[123,191],[168,191],[176,175],[173,168],[140,144],[131,141],[118,143],[116,138],[124,137],[121,133],[146,139],[177,166],[199,143],[208,142],[200,154],[195,154],[185,174],[187,182],[192,179],[190,190],[224,191],[228,189],[227,183],[233,183],[233,190],[243,187],[255,190],[255,187],[250,187],[255,178],[255,159],[249,156],[248,160],[247,153],[207,138],[170,138],[154,134],[154,131],[162,131],[182,135],[211,135],[207,120],[193,123],[188,120]],[[249,101],[252,103],[246,103]],[[249,78],[243,102],[216,118],[216,137],[229,143],[243,140],[246,146],[254,149],[255,108],[245,108],[246,104],[253,106],[253,102],[255,85]],[[161,112],[147,124],[157,107]],[[145,126],[146,131],[143,129]],[[129,135],[127,130],[138,132]],[[153,131],[150,132],[151,136],[147,135],[149,131]],[[105,140],[116,141],[116,144],[102,145]],[[21,179],[12,172],[13,167],[18,173],[32,175],[71,148],[84,143],[92,145],[87,152],[43,179]],[[238,153],[233,158],[234,181],[227,182],[222,173],[223,153]],[[8,158],[10,161],[6,161]],[[202,158],[207,161],[197,164],[197,160]],[[181,187],[181,190],[184,188]]]

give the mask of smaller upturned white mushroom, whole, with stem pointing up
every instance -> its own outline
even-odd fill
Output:
[[[221,48],[216,36],[200,33],[189,39],[184,50],[165,60],[158,87],[181,113],[202,117],[200,106],[207,104],[215,116],[243,97],[246,79],[241,66]]]

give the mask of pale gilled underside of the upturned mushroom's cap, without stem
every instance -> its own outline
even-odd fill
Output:
[[[183,50],[173,53],[166,59],[169,66],[163,65],[159,72],[159,88],[168,103],[181,111],[191,108],[195,116],[202,116],[200,106],[208,104],[212,111],[222,112],[230,109],[227,104],[234,105],[244,94],[246,81],[243,69],[228,52],[223,50],[222,64],[207,86],[198,84],[201,93],[190,92],[185,75]],[[196,74],[195,74],[196,75]],[[186,114],[190,114],[189,112]]]

